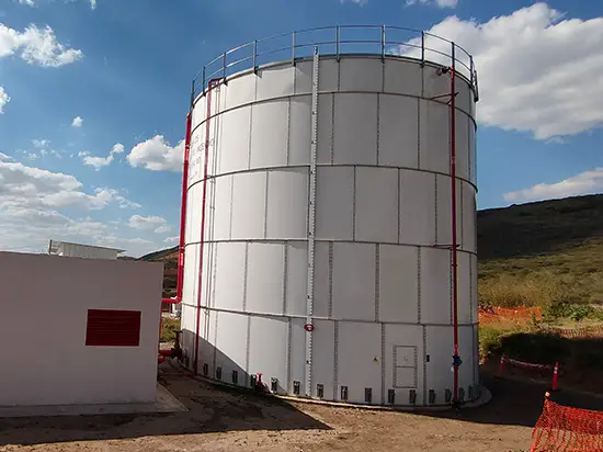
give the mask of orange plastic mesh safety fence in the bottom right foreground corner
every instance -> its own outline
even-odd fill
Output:
[[[534,431],[531,452],[603,452],[603,411],[545,400]]]

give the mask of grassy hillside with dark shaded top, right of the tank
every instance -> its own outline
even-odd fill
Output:
[[[478,213],[480,303],[603,303],[603,195]]]

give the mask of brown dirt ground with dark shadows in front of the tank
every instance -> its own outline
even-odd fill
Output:
[[[0,419],[0,451],[528,451],[546,387],[483,375],[490,404],[405,414],[286,403],[185,377],[162,383],[190,411]],[[561,391],[559,403],[602,409]]]

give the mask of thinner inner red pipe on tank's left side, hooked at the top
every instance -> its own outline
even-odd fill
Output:
[[[203,261],[204,261],[204,245],[205,245],[205,205],[207,203],[207,170],[209,167],[209,118],[212,116],[212,90],[219,83],[220,79],[212,79],[207,84],[207,109],[205,113],[205,160],[203,162],[203,199],[201,202],[201,240],[198,250],[198,281],[197,281],[197,318],[195,327],[195,348],[194,348],[194,361],[193,371],[198,373],[198,344],[201,332],[201,290],[203,287]]]

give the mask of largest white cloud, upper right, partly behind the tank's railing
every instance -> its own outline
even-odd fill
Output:
[[[481,124],[531,132],[536,139],[603,124],[603,18],[562,20],[535,3],[486,23],[450,16],[430,33],[474,55]],[[425,45],[450,53],[437,39],[428,37]],[[442,61],[431,52],[426,56]]]

